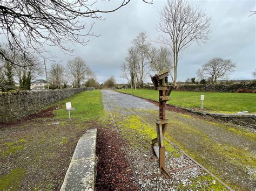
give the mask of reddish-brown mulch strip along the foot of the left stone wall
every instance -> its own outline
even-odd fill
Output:
[[[23,124],[25,122],[30,121],[31,119],[35,119],[35,118],[51,118],[54,117],[52,111],[55,110],[56,107],[50,107],[47,109],[43,109],[41,111],[38,111],[34,114],[25,116],[21,119],[15,120],[15,121],[11,121],[11,122],[6,122],[6,123],[0,123],[0,128],[2,126],[12,126],[12,125],[19,125],[19,124]]]

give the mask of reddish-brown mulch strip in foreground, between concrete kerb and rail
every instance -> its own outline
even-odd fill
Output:
[[[122,149],[118,132],[110,128],[98,128],[96,155],[98,157],[96,190],[139,189],[132,181],[132,170]]]

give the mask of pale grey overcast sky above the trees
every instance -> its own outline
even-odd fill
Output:
[[[183,56],[178,62],[178,81],[196,77],[197,69],[214,57],[231,59],[237,63],[237,68],[229,79],[252,79],[255,64],[255,19],[256,15],[248,17],[250,11],[256,10],[255,1],[190,1],[194,6],[199,5],[211,17],[210,40],[205,44],[192,43],[184,49]],[[126,80],[120,77],[120,65],[127,56],[131,40],[139,32],[146,32],[151,40],[155,40],[159,32],[159,11],[166,1],[154,0],[153,4],[134,0],[113,13],[102,15],[105,20],[85,19],[85,22],[95,22],[93,32],[100,37],[90,37],[87,46],[70,45],[75,55],[81,56],[96,73],[97,80],[102,83],[113,75],[118,83]],[[98,9],[108,10],[117,7],[120,1],[98,1]],[[155,46],[159,44],[153,43]],[[62,60],[63,65],[73,56],[65,55],[59,49],[50,48],[53,55]],[[48,63],[49,65],[49,63]],[[49,68],[49,66],[48,66]],[[149,82],[150,79],[145,80]]]

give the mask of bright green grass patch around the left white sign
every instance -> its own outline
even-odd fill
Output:
[[[69,118],[69,112],[66,111],[65,102],[71,102],[72,108],[76,108],[76,110],[70,111],[71,119],[78,119],[78,121],[81,122],[96,119],[102,115],[103,112],[102,94],[100,90],[83,91],[82,93],[63,100],[60,104],[61,108],[54,111],[56,118]]]

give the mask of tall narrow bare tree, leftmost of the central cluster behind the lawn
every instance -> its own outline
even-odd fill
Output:
[[[137,59],[137,69],[138,73],[136,75],[139,87],[143,87],[143,81],[145,79],[146,69],[149,65],[150,58],[149,52],[151,48],[151,43],[147,40],[145,32],[140,32],[138,36],[133,39],[133,54]]]

